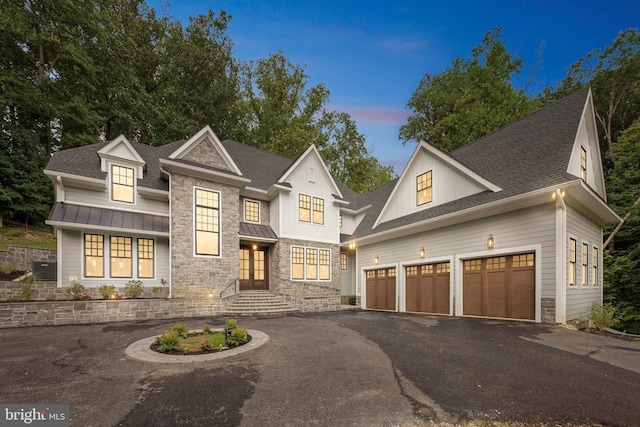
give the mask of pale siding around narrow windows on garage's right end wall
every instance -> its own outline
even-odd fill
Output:
[[[602,227],[587,219],[578,210],[567,207],[567,253],[566,265],[569,265],[569,239],[576,240],[576,285],[569,286],[569,268],[564,286],[567,287],[566,320],[586,319],[591,304],[602,304]],[[582,244],[589,248],[587,259],[587,286],[582,286]],[[592,286],[593,248],[598,248],[598,286]]]

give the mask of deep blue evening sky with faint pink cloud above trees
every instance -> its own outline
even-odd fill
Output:
[[[209,9],[232,16],[228,34],[240,60],[282,51],[305,67],[309,87],[331,92],[329,110],[347,112],[383,165],[401,174],[415,144],[402,144],[406,104],[425,74],[468,58],[484,35],[503,27],[507,49],[524,61],[513,84],[535,95],[555,85],[569,65],[640,26],[637,0],[147,0],[188,23]],[[538,60],[536,60],[538,57]],[[215,132],[215,129],[214,129]]]

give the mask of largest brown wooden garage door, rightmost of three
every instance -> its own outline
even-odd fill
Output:
[[[463,314],[535,320],[535,255],[464,261]]]

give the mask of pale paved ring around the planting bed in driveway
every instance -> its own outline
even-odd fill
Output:
[[[222,331],[221,328],[212,329],[214,332]],[[189,332],[202,332],[202,329],[191,330]],[[251,336],[251,341],[240,347],[232,348],[230,350],[219,351],[215,353],[207,354],[194,354],[177,356],[174,354],[162,354],[151,350],[151,344],[156,340],[156,336],[150,338],[144,338],[129,345],[125,350],[125,354],[132,359],[140,360],[142,362],[151,363],[199,363],[209,362],[212,360],[224,359],[226,357],[236,356],[241,353],[256,349],[269,341],[269,335],[264,332],[248,330]]]

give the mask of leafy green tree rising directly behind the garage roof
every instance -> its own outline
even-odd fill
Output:
[[[457,57],[440,74],[425,75],[407,103],[413,114],[400,128],[404,144],[424,140],[451,151],[532,111],[524,90],[510,81],[522,60],[507,51],[501,31],[489,31],[471,58]]]

